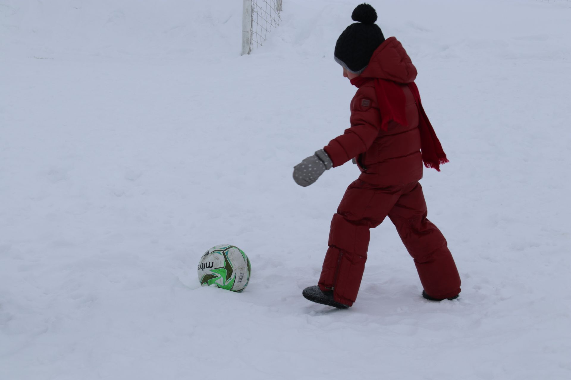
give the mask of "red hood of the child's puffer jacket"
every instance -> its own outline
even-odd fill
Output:
[[[361,73],[365,78],[388,79],[397,83],[411,83],[416,75],[415,65],[395,37],[388,38],[377,47],[367,68]]]

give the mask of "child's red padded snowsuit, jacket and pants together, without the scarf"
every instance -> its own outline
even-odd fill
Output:
[[[427,294],[444,299],[460,292],[456,264],[446,239],[427,219],[427,206],[418,182],[423,175],[419,115],[424,111],[407,85],[413,83],[416,73],[400,42],[394,37],[385,40],[360,77],[399,84],[405,96],[408,125],[389,121],[388,128],[381,128],[375,81],[371,80],[359,87],[351,101],[351,128],[324,148],[333,167],[356,158],[361,170],[333,215],[329,249],[319,279],[321,290],[332,290],[335,301],[343,304],[352,305],[359,292],[369,228],[378,226],[387,215],[414,259]]]

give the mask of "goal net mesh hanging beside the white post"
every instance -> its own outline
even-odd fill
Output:
[[[252,37],[250,51],[262,46],[272,28],[276,28],[280,21],[282,0],[253,0],[252,1]]]

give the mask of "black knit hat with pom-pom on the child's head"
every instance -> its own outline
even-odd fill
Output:
[[[335,61],[347,71],[360,74],[385,37],[375,24],[377,12],[371,5],[357,5],[351,18],[357,22],[349,25],[337,39]]]

